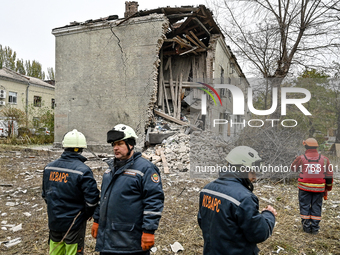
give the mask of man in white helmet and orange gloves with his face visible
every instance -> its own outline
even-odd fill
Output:
[[[91,229],[101,255],[146,255],[155,243],[164,193],[158,168],[134,152],[136,139],[125,124],[107,132],[115,158],[107,162]]]

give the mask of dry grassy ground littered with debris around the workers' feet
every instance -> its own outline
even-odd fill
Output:
[[[42,170],[60,154],[0,145],[0,254],[48,254],[46,205],[41,198]],[[106,164],[90,153],[85,156],[90,158],[87,164],[100,188]],[[202,254],[203,237],[196,221],[198,198],[199,191],[212,179],[191,179],[187,172],[170,171],[168,175],[162,174],[165,207],[156,232],[157,251],[152,254],[175,254],[170,244],[176,241],[184,248],[179,254]],[[260,209],[271,204],[278,212],[273,235],[258,245],[260,254],[340,254],[339,183],[335,180],[329,200],[324,202],[318,235],[302,231],[296,183],[255,184]],[[85,254],[98,255],[90,234],[91,225],[92,222],[87,226]],[[10,240],[18,243],[6,247]]]

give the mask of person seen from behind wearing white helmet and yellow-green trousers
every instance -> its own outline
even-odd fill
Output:
[[[84,164],[87,159],[81,155],[87,148],[85,136],[74,129],[64,136],[62,146],[63,154],[45,167],[43,175],[49,254],[80,255],[84,254],[86,221],[98,204],[99,190],[91,169]]]

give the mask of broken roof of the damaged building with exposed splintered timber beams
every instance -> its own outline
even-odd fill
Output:
[[[150,14],[164,14],[169,20],[170,28],[166,34],[167,39],[164,41],[163,45],[165,55],[181,55],[188,52],[197,54],[198,52],[207,50],[212,34],[220,34],[223,36],[220,28],[213,18],[212,12],[204,5],[199,5],[197,7],[162,7],[152,10],[138,11],[127,18],[121,19],[116,23],[116,25],[119,26],[129,19],[148,16]],[[111,15],[106,18],[96,20],[90,19],[85,22],[74,21],[71,22],[70,25],[60,28],[89,26],[91,24],[117,19],[118,15]],[[60,28],[55,28],[53,31]],[[178,44],[177,48],[174,47],[175,44]]]

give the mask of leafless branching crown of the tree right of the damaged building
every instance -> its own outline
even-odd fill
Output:
[[[250,64],[253,73],[272,78],[267,97],[270,87],[280,87],[292,67],[319,70],[327,66],[330,55],[338,54],[339,1],[211,0],[210,5],[218,10],[238,58]]]

